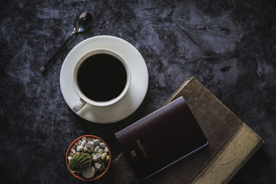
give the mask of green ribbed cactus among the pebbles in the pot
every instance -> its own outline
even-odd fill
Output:
[[[91,165],[92,157],[90,154],[81,153],[76,154],[69,162],[69,167],[72,171],[82,172],[89,165]]]

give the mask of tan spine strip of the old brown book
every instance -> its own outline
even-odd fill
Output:
[[[244,123],[215,159],[195,178],[193,184],[228,183],[263,143]]]

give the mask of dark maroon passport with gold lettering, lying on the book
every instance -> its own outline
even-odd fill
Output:
[[[182,96],[115,136],[135,172],[143,178],[208,145]]]

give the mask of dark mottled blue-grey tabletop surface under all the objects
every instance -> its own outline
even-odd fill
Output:
[[[1,1],[1,181],[81,183],[67,170],[68,145],[95,134],[119,154],[113,134],[156,110],[195,76],[266,144],[231,183],[276,181],[276,6],[274,1]],[[70,40],[46,74],[39,68],[92,13],[92,28]],[[77,43],[96,35],[132,43],[146,61],[148,93],[138,110],[108,125],[77,116],[59,72]]]

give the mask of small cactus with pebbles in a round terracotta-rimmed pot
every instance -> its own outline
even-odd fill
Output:
[[[83,181],[94,181],[106,173],[110,165],[108,145],[97,136],[80,136],[68,147],[66,165],[70,173]]]

